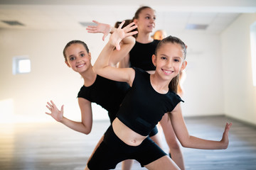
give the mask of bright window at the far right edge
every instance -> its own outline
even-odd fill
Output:
[[[256,22],[250,26],[250,42],[252,55],[252,84],[256,86]]]

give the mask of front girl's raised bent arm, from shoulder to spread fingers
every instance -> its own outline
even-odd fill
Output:
[[[116,68],[111,67],[109,65],[110,55],[114,50],[120,50],[120,42],[131,35],[137,33],[137,31],[132,31],[137,26],[134,26],[134,23],[130,23],[128,26],[122,28],[124,21],[120,24],[119,28],[114,30],[114,33],[110,36],[109,42],[103,48],[102,52],[100,53],[99,57],[97,58],[93,68],[97,74],[100,74],[102,77],[106,77],[107,79],[112,79],[115,81],[126,81],[130,86],[132,86],[132,82],[134,80],[134,69],[131,68]]]

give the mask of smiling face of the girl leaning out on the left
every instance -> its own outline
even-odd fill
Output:
[[[88,68],[92,67],[90,62],[91,56],[85,50],[84,45],[80,43],[74,43],[65,50],[66,61],[68,67],[71,67],[75,72],[85,72]]]

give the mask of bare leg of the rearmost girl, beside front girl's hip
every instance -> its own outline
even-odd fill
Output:
[[[174,160],[180,169],[185,169],[181,147],[178,144],[178,140],[175,135],[174,128],[171,125],[171,121],[168,119],[168,114],[166,113],[161,119],[160,124],[164,131],[164,137],[166,138],[167,145],[170,149],[169,152],[171,154],[171,159]]]

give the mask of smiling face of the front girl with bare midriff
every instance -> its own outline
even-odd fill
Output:
[[[159,47],[152,61],[156,66],[156,74],[161,79],[171,80],[185,69],[186,61],[183,48],[176,42],[166,42]]]

